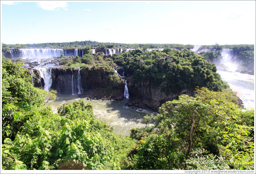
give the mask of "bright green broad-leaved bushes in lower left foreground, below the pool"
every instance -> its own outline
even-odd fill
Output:
[[[29,119],[21,132],[2,145],[4,152],[11,152],[3,154],[3,169],[17,168],[12,165],[16,160],[37,170],[57,169],[68,160],[79,160],[92,170],[120,169],[112,129],[95,118],[90,104],[75,101],[60,107],[59,113],[53,114],[49,107],[24,113]]]

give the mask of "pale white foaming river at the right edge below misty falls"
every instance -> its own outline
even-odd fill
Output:
[[[245,108],[255,108],[254,75],[239,72],[217,72],[230,85],[231,89],[239,90],[242,93],[240,99],[243,101]]]

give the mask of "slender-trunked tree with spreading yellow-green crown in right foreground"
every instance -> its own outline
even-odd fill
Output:
[[[195,93],[195,97],[181,95],[178,100],[167,101],[160,107],[160,114],[156,118],[156,126],[161,125],[168,127],[169,130],[174,129],[178,134],[183,134],[188,138],[185,160],[189,157],[196,130],[223,119],[216,112],[217,110],[222,110],[224,113],[229,114],[232,111],[230,108],[237,108],[221,92],[198,88]],[[185,169],[186,167],[185,164]]]

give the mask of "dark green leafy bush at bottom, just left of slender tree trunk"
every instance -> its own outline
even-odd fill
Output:
[[[171,134],[152,134],[137,142],[136,153],[127,158],[125,169],[173,170],[182,161],[179,139]]]

